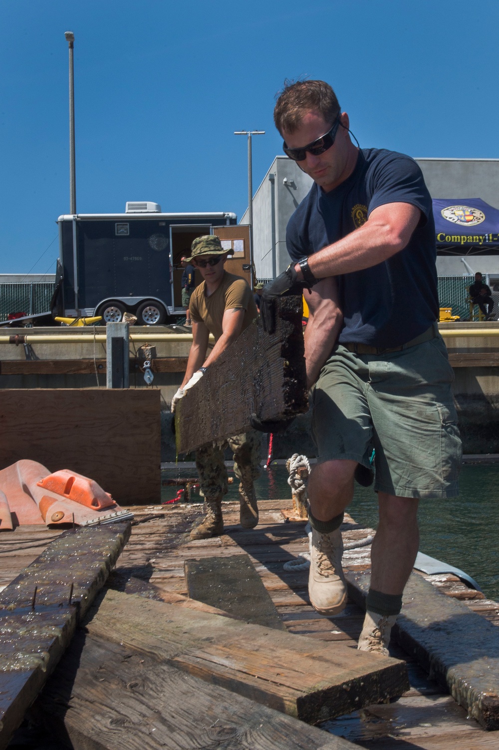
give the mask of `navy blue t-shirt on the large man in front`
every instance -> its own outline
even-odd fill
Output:
[[[423,174],[405,154],[363,148],[342,184],[326,193],[314,183],[289,220],[286,244],[297,261],[353,232],[374,208],[394,202],[420,208],[420,223],[404,250],[337,277],[341,343],[399,347],[438,320],[435,222]]]

